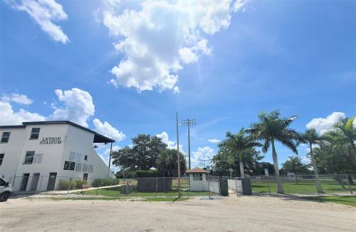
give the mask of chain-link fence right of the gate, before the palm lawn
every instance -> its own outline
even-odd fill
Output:
[[[283,190],[290,194],[355,193],[356,175],[333,174],[280,176]],[[250,176],[252,191],[256,193],[277,193],[276,176]],[[319,191],[318,191],[319,189]]]

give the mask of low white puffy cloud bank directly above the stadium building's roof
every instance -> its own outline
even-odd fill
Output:
[[[26,95],[11,94],[3,96],[0,101],[0,125],[19,125],[24,121],[68,120],[88,127],[88,119],[95,113],[92,96],[87,91],[78,88],[66,91],[57,89],[55,93],[59,104],[56,102],[51,104],[54,111],[50,116],[42,116],[24,109],[14,111],[11,102],[31,104],[32,101]],[[111,126],[107,121],[101,122],[98,118],[95,118],[93,124],[95,126],[94,130],[104,136],[116,141],[122,141],[125,138],[125,133]]]

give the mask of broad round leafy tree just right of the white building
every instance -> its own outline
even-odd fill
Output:
[[[125,146],[112,153],[112,163],[126,171],[157,168],[157,158],[167,148],[161,138],[139,134],[132,138],[132,147]]]

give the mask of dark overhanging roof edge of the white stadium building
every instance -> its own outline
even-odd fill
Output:
[[[80,126],[76,123],[73,123],[71,121],[28,121],[28,122],[23,122],[22,125],[15,125],[15,126],[0,126],[0,129],[7,129],[7,128],[25,128],[28,125],[53,125],[53,124],[68,124],[70,126],[75,126],[76,128],[80,128],[84,131],[88,131],[90,133],[94,134],[94,141],[93,143],[114,143],[115,140],[112,138],[108,138],[106,136],[101,135],[100,133],[97,133],[95,131],[92,131],[88,128],[85,128],[84,126]]]

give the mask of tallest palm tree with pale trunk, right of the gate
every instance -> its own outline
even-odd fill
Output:
[[[258,115],[258,118],[260,121],[258,123],[253,123],[251,128],[248,128],[246,132],[250,133],[258,140],[263,140],[263,153],[266,153],[268,148],[272,146],[273,166],[278,183],[277,193],[283,194],[284,191],[279,176],[278,158],[274,142],[279,141],[284,146],[290,148],[294,153],[298,154],[295,141],[298,140],[300,135],[292,128],[289,128],[290,123],[292,123],[297,116],[281,118],[281,113],[279,111],[272,111],[271,113],[262,112]]]

